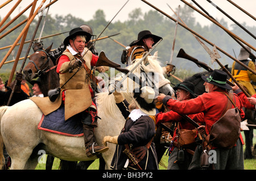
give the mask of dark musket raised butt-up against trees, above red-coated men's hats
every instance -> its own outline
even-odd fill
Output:
[[[198,61],[196,58],[189,56],[189,54],[185,53],[185,51],[181,48],[179,50],[179,53],[177,54],[177,57],[179,58],[185,58],[187,60],[190,60],[192,62],[194,62],[198,67],[200,68],[204,68],[207,71],[213,71],[212,68],[210,68],[207,64],[205,64],[204,62]],[[234,84],[232,82],[230,82],[228,79],[226,79],[227,83],[230,86],[234,86]]]

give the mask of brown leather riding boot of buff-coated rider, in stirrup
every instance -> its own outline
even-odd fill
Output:
[[[93,157],[94,154],[104,153],[105,151],[108,151],[108,147],[98,146],[97,143],[94,142],[94,128],[92,126],[82,124],[82,128],[84,129],[84,143],[87,157]]]

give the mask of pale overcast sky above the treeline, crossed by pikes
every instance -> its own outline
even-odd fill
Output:
[[[10,11],[10,9],[15,5],[15,3],[18,0],[13,0],[8,5],[2,7],[0,10],[0,16],[1,18],[5,17],[6,14]],[[53,0],[52,0],[53,1]],[[2,5],[3,2],[6,2],[6,0],[2,0],[0,5]],[[19,6],[15,9],[15,11],[11,14],[11,18],[16,16],[18,12],[22,11],[25,7],[27,7],[32,0],[23,0]],[[39,3],[42,2],[42,0],[39,0],[37,3],[36,8],[39,6]],[[50,1],[47,0],[46,3],[44,3],[44,6],[47,5]],[[49,8],[49,14],[55,15],[65,15],[65,14],[72,14],[73,16],[76,16],[77,18],[82,18],[85,21],[90,20],[93,18],[93,15],[98,9],[101,9],[105,12],[106,20],[110,21],[114,15],[118,12],[119,9],[125,3],[127,0],[59,0],[55,2],[52,6]],[[173,15],[173,12],[170,10],[170,8],[167,6],[167,3],[169,6],[172,7],[172,9],[176,9],[179,5],[181,7],[184,6],[184,3],[179,0],[147,0],[147,2],[150,2],[152,5],[158,7],[160,10],[166,12],[168,15]],[[192,1],[187,0],[187,2],[191,3]],[[224,18],[226,22],[231,22],[225,15],[223,15],[220,11],[218,11],[215,7],[210,5],[210,3],[207,0],[197,0],[197,3],[199,3],[202,7],[204,7],[205,10],[207,10],[214,18],[218,18],[219,20],[221,18]],[[226,13],[228,13],[232,18],[236,19],[237,22],[243,23],[246,22],[247,26],[256,26],[256,21],[250,18],[250,16],[247,16],[245,13],[243,13],[241,10],[237,9],[234,5],[232,5],[230,2],[225,0],[212,0],[213,3],[215,3],[218,7],[220,7],[222,10],[224,10]],[[236,3],[238,6],[242,7],[242,9],[249,12],[254,17],[256,16],[256,1],[255,0],[233,0],[234,3]],[[141,7],[143,12],[147,12],[149,10],[155,10],[152,7],[148,6],[146,3],[140,0],[129,0],[129,2],[126,4],[125,7],[119,12],[119,14],[115,17],[113,20],[114,22],[116,20],[127,20],[128,14],[134,10],[135,8]],[[30,12],[30,9],[27,10],[26,15],[28,15]],[[196,17],[196,21],[199,22],[201,25],[208,25],[211,22],[206,19],[204,16],[200,15],[198,12],[194,13]],[[174,17],[175,18],[175,17]],[[252,32],[256,34],[256,32]]]

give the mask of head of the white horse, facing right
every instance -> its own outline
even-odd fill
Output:
[[[134,60],[133,64],[128,66],[127,69],[133,69],[139,61],[141,61],[141,59]],[[165,95],[174,94],[174,89],[172,89],[170,81],[164,77],[163,68],[160,66],[160,62],[157,60],[156,54],[145,58],[141,64],[134,69],[133,73],[137,75],[137,77],[141,78],[142,86],[152,87],[155,90],[156,95],[159,93],[163,93]],[[127,78],[126,83],[123,83],[123,90],[127,90],[125,93],[131,93],[135,87],[138,86],[139,82],[134,83],[131,78]]]

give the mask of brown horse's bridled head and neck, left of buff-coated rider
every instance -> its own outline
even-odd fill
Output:
[[[60,86],[60,78],[56,73],[56,66],[53,64],[48,54],[51,48],[52,44],[46,50],[35,50],[35,53],[31,54],[27,66],[23,69],[23,73],[28,82],[40,77],[42,83],[41,89],[44,96],[48,96],[50,89],[55,89]]]

